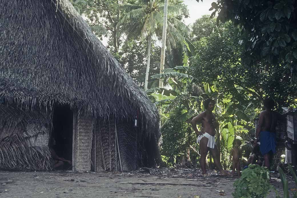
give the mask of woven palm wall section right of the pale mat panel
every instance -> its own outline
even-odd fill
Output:
[[[132,122],[97,120],[91,152],[92,170],[132,171],[138,168],[138,135]]]

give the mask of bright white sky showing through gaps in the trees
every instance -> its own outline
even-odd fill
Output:
[[[193,24],[198,18],[200,18],[202,15],[211,14],[212,11],[209,11],[208,9],[211,7],[211,3],[215,0],[204,0],[199,3],[196,0],[184,0],[184,4],[188,6],[189,10],[189,18],[184,19],[184,22],[186,25]],[[102,38],[103,45],[107,45],[107,38]],[[160,42],[157,42],[157,45],[161,46]]]

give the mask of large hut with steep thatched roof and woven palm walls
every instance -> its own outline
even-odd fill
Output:
[[[94,170],[130,170],[160,160],[156,107],[68,0],[10,0],[0,6],[0,151],[6,153],[0,168],[51,169],[49,136],[54,122],[65,117],[71,117],[63,130],[73,134],[73,170],[89,171],[91,164]],[[37,131],[31,136],[30,125]],[[44,126],[46,143],[32,145],[28,138],[44,136]]]

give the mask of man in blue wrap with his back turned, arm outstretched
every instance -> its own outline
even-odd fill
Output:
[[[260,151],[264,157],[265,164],[270,169],[270,161],[275,153],[276,147],[276,135],[275,127],[277,121],[283,119],[289,114],[292,109],[289,109],[286,113],[280,114],[271,109],[274,107],[274,100],[267,98],[264,100],[264,111],[261,111],[256,129],[254,144],[257,144],[260,135]]]

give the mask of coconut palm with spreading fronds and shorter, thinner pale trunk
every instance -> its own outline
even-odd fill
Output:
[[[142,0],[140,5],[120,4],[119,6],[131,10],[119,21],[118,26],[122,31],[126,32],[127,39],[135,39],[140,36],[143,39],[148,38],[146,77],[144,89],[147,89],[149,79],[149,65],[151,56],[151,41],[152,37],[157,39],[162,37],[163,26],[163,2],[160,0]],[[176,46],[177,42],[183,41],[184,34],[188,27],[175,17],[179,13],[179,8],[176,6],[168,6],[168,31],[166,33],[166,44],[168,49]]]

